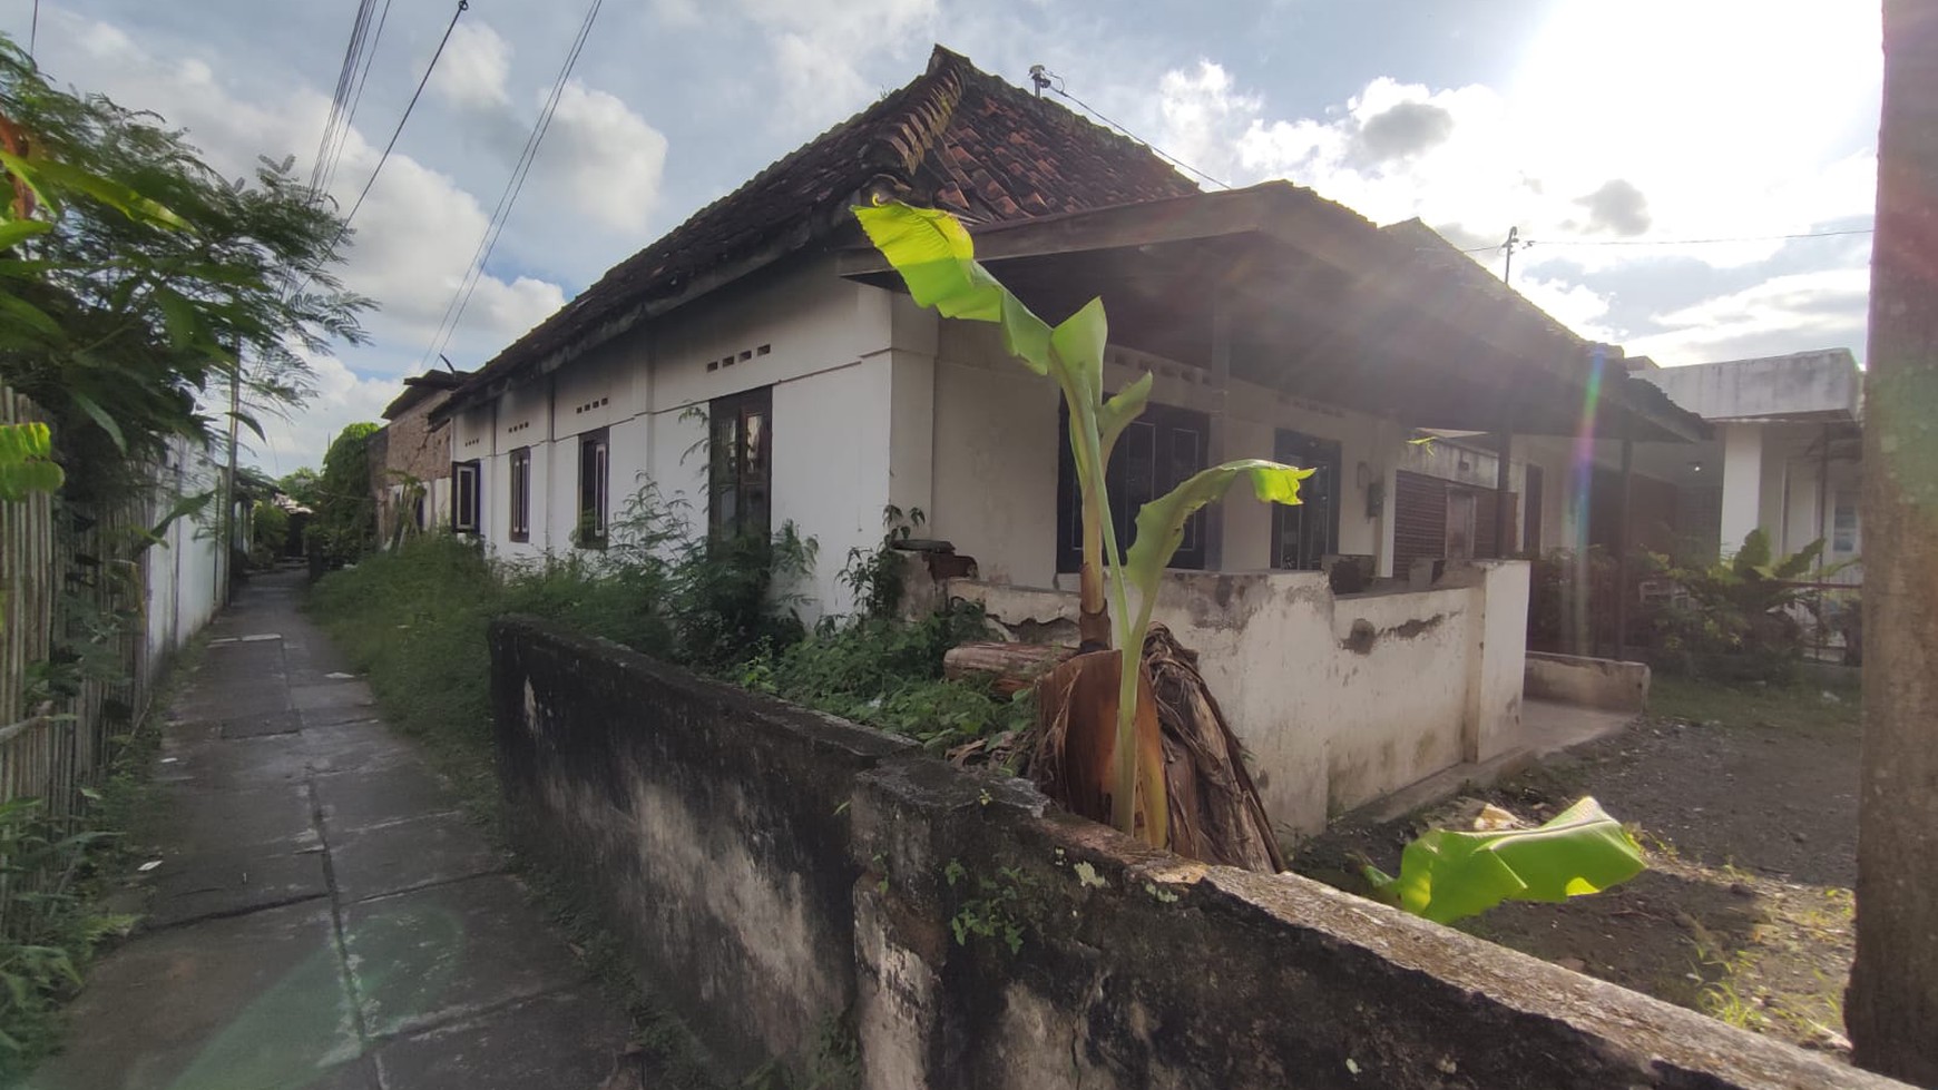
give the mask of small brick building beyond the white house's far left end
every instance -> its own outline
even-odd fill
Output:
[[[384,407],[384,426],[370,436],[370,490],[376,494],[376,540],[403,530],[452,523],[452,438],[432,410],[463,385],[467,372],[424,372],[403,379],[403,393]],[[473,488],[475,496],[475,488]],[[477,529],[477,513],[463,523]]]

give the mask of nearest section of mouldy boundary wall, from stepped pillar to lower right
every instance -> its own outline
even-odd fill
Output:
[[[1893,1086],[1298,875],[1186,863],[1027,786],[891,763],[853,815],[868,1090]],[[1016,953],[944,925],[990,904]]]

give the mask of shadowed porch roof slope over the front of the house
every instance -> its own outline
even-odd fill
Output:
[[[1112,343],[1213,374],[1417,428],[1707,436],[1419,221],[1376,228],[1289,182],[969,227],[1045,319],[1103,296]],[[899,287],[874,250],[841,273]]]

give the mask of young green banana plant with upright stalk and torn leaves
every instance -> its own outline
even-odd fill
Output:
[[[1085,643],[1105,643],[1105,635],[1114,635],[1116,724],[1110,823],[1124,833],[1136,833],[1140,656],[1151,623],[1151,608],[1157,602],[1157,583],[1184,540],[1184,521],[1205,503],[1221,498],[1240,476],[1252,482],[1254,496],[1264,501],[1298,503],[1298,482],[1314,470],[1262,459],[1207,469],[1145,503],[1138,511],[1136,540],[1128,554],[1122,552],[1109,517],[1105,469],[1110,465],[1110,449],[1124,428],[1143,414],[1151,397],[1151,376],[1145,374],[1105,399],[1103,352],[1109,341],[1109,321],[1103,300],[1089,300],[1052,327],[975,261],[975,244],[953,215],[890,201],[857,207],[855,217],[868,240],[901,275],[917,304],[934,308],[944,318],[998,325],[1004,348],[1031,372],[1054,381],[1064,395],[1064,405],[1070,409],[1070,453],[1076,461],[1083,509],[1079,635]],[[1105,573],[1110,575],[1109,600]],[[1130,608],[1132,587],[1138,589],[1136,612]],[[1143,703],[1147,705],[1149,699],[1145,697]],[[1145,714],[1149,716],[1149,707],[1145,707]],[[1143,763],[1153,761],[1153,745],[1143,747]],[[1155,759],[1161,763],[1161,755]],[[1165,844],[1163,784],[1163,769],[1143,771],[1147,815],[1143,833],[1153,844]]]

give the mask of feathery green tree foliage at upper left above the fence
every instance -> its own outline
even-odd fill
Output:
[[[304,352],[362,339],[368,300],[331,271],[343,225],[287,165],[229,180],[4,35],[0,137],[0,381],[48,414],[70,498],[141,488],[172,436],[225,432],[231,379],[260,436],[252,410],[308,393]]]

